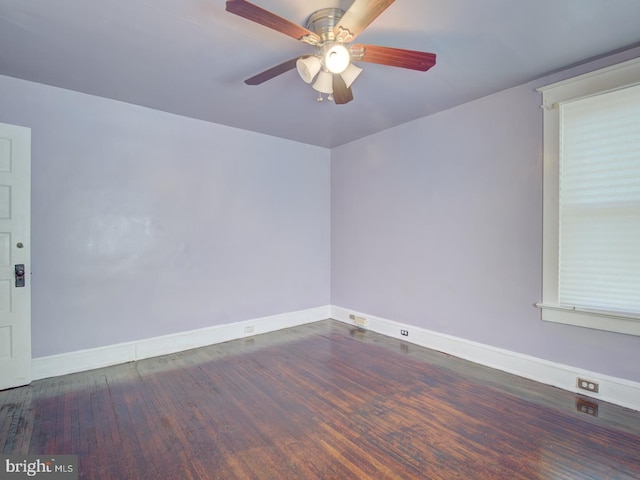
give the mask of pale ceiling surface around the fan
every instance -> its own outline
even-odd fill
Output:
[[[251,0],[305,25],[351,0]],[[224,0],[0,0],[0,74],[333,147],[640,43],[640,0],[398,0],[359,43],[437,54],[428,72],[360,63],[347,105],[295,70],[312,47]]]

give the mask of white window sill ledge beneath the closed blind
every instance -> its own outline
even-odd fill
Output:
[[[542,320],[547,322],[640,336],[640,315],[581,310],[544,303],[536,303],[536,307],[542,310]]]

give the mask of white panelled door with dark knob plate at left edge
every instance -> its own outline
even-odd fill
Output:
[[[0,123],[0,390],[31,382],[30,190],[31,130]]]

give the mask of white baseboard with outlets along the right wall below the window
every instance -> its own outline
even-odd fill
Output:
[[[331,318],[350,325],[356,325],[356,319],[349,318],[350,315],[360,317],[358,324],[362,326],[364,320],[366,322],[364,328],[376,333],[444,352],[480,365],[562,388],[563,390],[640,410],[640,383],[637,382],[581,370],[463,338],[433,332],[413,325],[402,324],[338,306],[331,306]],[[400,330],[406,330],[409,335],[402,336]],[[597,382],[599,384],[599,392],[592,393],[578,389],[578,377]]]

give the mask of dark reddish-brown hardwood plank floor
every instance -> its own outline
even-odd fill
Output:
[[[118,480],[623,480],[640,413],[324,321],[0,392],[0,452]]]

